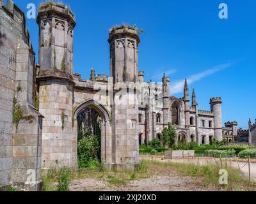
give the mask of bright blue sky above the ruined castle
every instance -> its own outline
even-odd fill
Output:
[[[15,1],[15,0],[14,0]],[[16,0],[26,10],[42,0]],[[90,68],[109,75],[108,29],[136,24],[141,34],[139,69],[145,80],[161,82],[171,77],[172,95],[182,97],[184,78],[194,88],[200,109],[209,110],[209,99],[223,98],[223,123],[237,120],[248,127],[256,118],[256,1],[254,0],[63,0],[76,15],[74,71],[88,78]],[[228,19],[218,17],[220,3],[228,5]],[[38,26],[27,20],[31,41],[38,53]]]

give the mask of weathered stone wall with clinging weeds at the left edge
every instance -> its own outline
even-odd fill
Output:
[[[35,53],[24,13],[12,1],[6,5],[0,8],[0,186],[37,190],[42,115],[35,109]]]

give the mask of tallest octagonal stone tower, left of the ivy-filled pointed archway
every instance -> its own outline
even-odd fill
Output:
[[[67,6],[42,4],[38,10],[39,64],[37,78],[42,129],[42,168],[76,166],[72,130],[74,15]]]

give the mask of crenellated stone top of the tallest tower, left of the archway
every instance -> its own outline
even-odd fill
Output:
[[[40,17],[44,15],[48,16],[49,13],[51,13],[51,15],[56,15],[68,19],[69,23],[73,25],[73,27],[76,25],[75,15],[74,13],[72,13],[70,8],[68,6],[65,6],[64,4],[54,3],[52,1],[47,1],[47,3],[43,3],[39,6],[36,22],[38,23]]]

